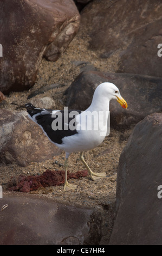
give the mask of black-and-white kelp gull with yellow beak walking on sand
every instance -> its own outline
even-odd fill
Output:
[[[64,111],[36,108],[31,103],[21,106],[27,109],[30,119],[42,128],[49,140],[66,152],[64,191],[76,188],[76,185],[67,181],[70,153],[80,152],[80,160],[85,164],[92,180],[106,176],[106,173],[94,173],[90,170],[83,151],[98,147],[108,135],[109,101],[112,99],[127,108],[127,102],[121,97],[119,89],[108,82],[99,84],[91,105],[83,112],[67,108]]]

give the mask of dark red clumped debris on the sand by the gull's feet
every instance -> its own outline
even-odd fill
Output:
[[[81,177],[86,177],[87,174],[87,170],[81,170],[71,174],[68,172],[68,179],[79,179]],[[12,177],[8,182],[8,189],[20,192],[29,192],[37,190],[38,187],[60,186],[62,184],[64,184],[64,171],[47,169],[42,175],[20,175],[18,178]]]

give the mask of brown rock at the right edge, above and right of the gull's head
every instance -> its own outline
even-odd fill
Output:
[[[145,33],[144,28],[139,29],[139,35],[121,53],[118,72],[162,77],[162,59],[158,56],[161,23],[162,19],[147,25]]]

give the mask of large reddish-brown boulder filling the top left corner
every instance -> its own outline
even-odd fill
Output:
[[[33,86],[43,55],[57,60],[74,38],[80,20],[73,0],[4,0],[0,16],[3,93]]]

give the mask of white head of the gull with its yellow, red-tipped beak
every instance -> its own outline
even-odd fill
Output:
[[[113,83],[101,83],[95,89],[94,97],[101,97],[102,100],[117,100],[123,108],[127,108],[127,102],[121,97],[118,87]]]

